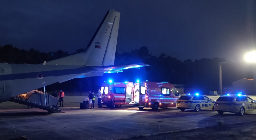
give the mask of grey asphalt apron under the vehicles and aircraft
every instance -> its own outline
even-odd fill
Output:
[[[65,96],[64,113],[47,113],[41,109],[27,109],[27,106],[4,102],[0,103],[0,139],[29,140],[45,139],[118,139],[139,135],[157,134],[167,131],[193,129],[224,124],[249,123],[255,121],[256,113],[237,116],[233,113],[223,115],[207,109],[200,112],[173,108],[150,108],[139,110],[137,107],[123,106],[110,110],[103,106],[94,109],[80,109],[82,96]],[[216,100],[218,97],[210,97]],[[215,99],[216,98],[216,99]],[[256,100],[255,96],[252,96]]]

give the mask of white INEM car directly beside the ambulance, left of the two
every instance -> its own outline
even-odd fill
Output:
[[[205,95],[188,94],[181,96],[177,100],[176,107],[181,111],[185,109],[194,109],[195,111],[200,111],[200,109],[213,109],[214,110],[215,101],[211,100]]]

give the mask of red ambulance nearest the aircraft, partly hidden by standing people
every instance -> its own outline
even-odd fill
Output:
[[[133,82],[113,82],[111,79],[101,85],[101,104],[111,107],[110,93],[115,94],[114,105],[120,108],[122,105],[130,105],[132,101]]]

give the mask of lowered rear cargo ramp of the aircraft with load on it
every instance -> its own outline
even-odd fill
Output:
[[[48,111],[49,113],[60,112],[58,106],[58,98],[53,97],[49,94],[44,94],[38,90],[32,90],[27,94],[21,94],[17,97],[13,97],[11,102],[23,104],[26,106],[36,107]]]

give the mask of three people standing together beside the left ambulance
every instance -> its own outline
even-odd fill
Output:
[[[102,108],[101,96],[102,96],[101,90],[98,89],[98,93],[97,93],[98,106],[99,106],[98,108]],[[90,107],[90,109],[93,109],[94,108],[94,102],[95,102],[94,92],[89,91],[88,97],[89,97],[89,107]],[[114,109],[115,94],[113,92],[111,92],[111,94],[110,94],[110,100],[111,100],[111,108],[110,109]]]

